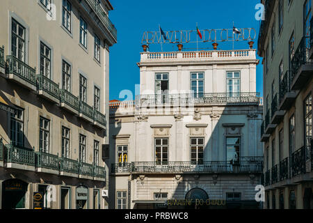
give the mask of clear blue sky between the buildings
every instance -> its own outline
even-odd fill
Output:
[[[141,40],[145,31],[163,31],[199,29],[255,28],[257,36],[260,22],[255,20],[255,5],[259,0],[158,0],[127,1],[110,0],[114,10],[110,20],[118,29],[118,43],[110,49],[110,100],[118,99],[120,91],[128,89],[135,95],[135,84],[140,84],[140,52],[143,52]],[[248,49],[248,41],[235,42],[234,49]],[[168,44],[165,51],[172,51]],[[184,45],[193,48],[195,45]],[[212,47],[205,43],[202,47]],[[219,45],[220,49],[232,49],[232,43]],[[255,45],[257,47],[257,38]],[[164,49],[163,45],[163,49]],[[177,47],[174,47],[175,51]],[[150,47],[151,52],[161,51],[160,45]],[[262,59],[257,66],[257,92],[263,95]],[[128,98],[131,100],[131,98]]]

